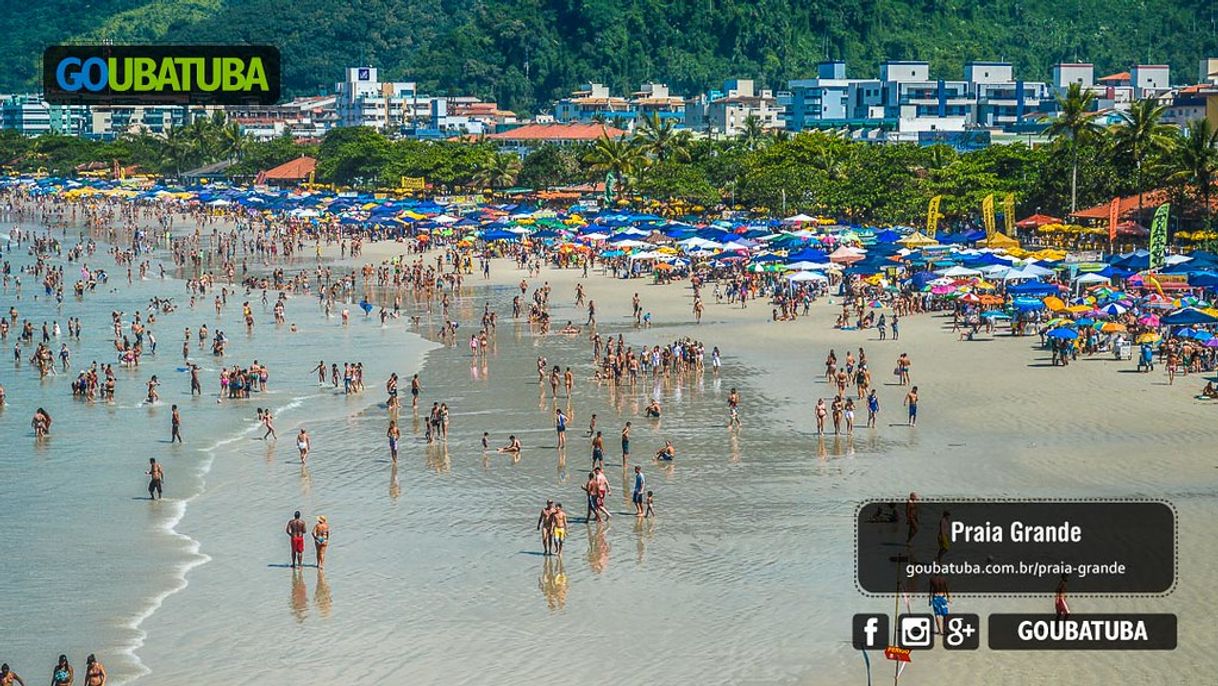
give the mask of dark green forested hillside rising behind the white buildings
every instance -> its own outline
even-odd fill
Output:
[[[38,0],[0,2],[0,93],[35,88],[50,43],[248,41],[281,49],[290,94],[368,62],[525,113],[587,80],[618,93],[648,79],[686,94],[732,77],[777,88],[826,56],[859,77],[884,58],[928,60],[937,78],[1006,58],[1029,80],[1062,60],[1101,72],[1149,60],[1191,82],[1197,60],[1218,55],[1218,6],[1201,0]]]

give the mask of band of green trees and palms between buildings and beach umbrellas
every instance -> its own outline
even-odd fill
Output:
[[[1085,100],[1073,91],[1063,99],[1065,112],[1078,110],[1072,97]],[[775,135],[756,122],[747,122],[733,140],[694,139],[653,119],[631,139],[542,146],[523,161],[487,143],[390,140],[370,128],[336,129],[320,146],[286,138],[251,143],[222,119],[205,119],[166,139],[128,135],[91,143],[0,135],[0,161],[22,171],[66,174],[84,162],[119,160],[173,177],[201,163],[235,160],[230,173],[250,178],[309,154],[318,157],[319,182],[376,189],[393,188],[401,177],[424,177],[435,191],[547,188],[603,180],[611,173],[619,191],[635,200],[905,224],[918,223],[934,195],[943,195],[942,211],[950,222],[976,219],[990,193],[1013,193],[1021,216],[1065,217],[1072,201],[1089,207],[1166,188],[1180,228],[1208,227],[1213,216],[1203,208],[1211,206],[1209,191],[1218,180],[1218,132],[1202,119],[1183,135],[1161,118],[1162,106],[1139,102],[1121,124],[1104,129],[1084,112],[1077,122],[1063,117],[1055,124],[1051,145],[994,145],[967,154],[943,145],[854,143],[827,133]]]

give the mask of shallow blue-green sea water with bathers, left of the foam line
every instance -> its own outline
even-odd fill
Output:
[[[0,225],[0,249],[11,224]],[[76,232],[69,232],[76,234]],[[49,670],[62,652],[78,669],[88,653],[96,653],[117,684],[149,674],[139,659],[147,636],[145,621],[161,610],[174,593],[188,587],[189,574],[211,560],[207,542],[180,531],[183,518],[206,492],[208,474],[217,464],[241,454],[245,444],[262,436],[256,408],[272,408],[279,441],[257,441],[259,452],[278,448],[278,457],[295,456],[295,428],[323,415],[340,417],[365,403],[382,398],[380,391],[391,367],[406,373],[417,364],[429,344],[404,330],[404,324],[381,327],[375,318],[352,317],[342,327],[337,317],[326,319],[315,299],[290,297],[289,323],[276,327],[270,305],[261,294],[229,297],[217,316],[211,295],[189,307],[189,292],[181,280],[150,278],[125,283],[125,268],[118,268],[101,246],[84,262],[112,275],[105,286],[76,299],[67,289],[61,305],[35,288],[32,274],[17,274],[32,263],[26,246],[5,252],[21,278],[18,299],[15,285],[0,294],[5,314],[18,311],[18,322],[0,344],[0,384],[7,391],[7,406],[0,411],[0,484],[4,484],[5,552],[0,554],[4,580],[5,631],[0,659],[27,676]],[[65,260],[68,285],[79,266]],[[156,273],[152,269],[151,273]],[[125,312],[129,333],[132,313],[147,317],[151,297],[173,297],[179,306],[158,314],[149,327],[157,339],[155,355],[145,350],[138,368],[122,368],[112,344],[111,312]],[[255,309],[253,334],[241,320],[240,303],[248,297]],[[275,294],[269,294],[270,303]],[[79,341],[67,336],[67,318],[79,317]],[[33,352],[24,345],[22,361],[15,362],[13,345],[21,322],[58,320],[62,338],[52,340],[54,351],[67,342],[72,353],[69,372],[39,379],[28,363]],[[196,331],[206,324],[223,329],[229,338],[227,355],[217,358],[208,347],[190,346],[190,362],[202,368],[202,396],[190,396],[190,379],[181,357],[183,329]],[[39,340],[35,335],[35,344]],[[145,346],[146,347],[146,346]],[[318,387],[308,370],[317,361],[364,362],[369,391],[343,396],[341,389]],[[57,358],[56,358],[57,359]],[[270,368],[269,390],[248,400],[217,402],[220,366],[258,359]],[[77,370],[93,361],[113,363],[117,375],[113,401],[74,400],[71,383]],[[397,363],[402,366],[396,367]],[[58,364],[56,364],[58,367]],[[144,402],[145,383],[156,374],[161,401]],[[408,374],[407,374],[408,377]],[[183,444],[169,442],[171,406],[179,405]],[[35,440],[29,425],[35,408],[44,407],[54,418],[51,435]],[[266,448],[263,446],[266,445]],[[241,448],[241,450],[238,450]],[[164,500],[147,498],[147,462],[155,457],[166,472]],[[228,513],[229,515],[239,513]],[[228,522],[229,525],[233,522]],[[234,617],[240,615],[235,610]],[[157,680],[153,679],[153,682]]]

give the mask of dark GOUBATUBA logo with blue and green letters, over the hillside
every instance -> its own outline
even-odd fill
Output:
[[[54,45],[43,90],[67,105],[274,105],[279,50],[267,45]]]

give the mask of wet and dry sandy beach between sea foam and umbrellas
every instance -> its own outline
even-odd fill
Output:
[[[367,245],[358,260],[341,260],[334,247],[325,258],[350,268],[402,251],[403,244],[386,241]],[[276,370],[280,440],[253,440],[250,401],[240,422],[217,425],[214,435],[192,444],[208,461],[206,478],[174,531],[197,542],[206,558],[139,624],[138,667],[111,660],[116,682],[189,681],[206,665],[213,679],[235,684],[270,677],[482,684],[490,674],[504,684],[862,684],[864,660],[849,643],[850,617],[890,612],[893,601],[855,589],[853,515],[861,500],[901,501],[910,491],[928,498],[1170,500],[1180,541],[1174,592],[1077,597],[1072,604],[1075,612],[1177,613],[1180,643],[1170,653],[1082,657],[939,651],[918,656],[901,682],[1207,677],[1212,660],[1202,637],[1216,608],[1206,568],[1214,542],[1203,523],[1218,513],[1218,475],[1207,447],[1213,408],[1194,400],[1205,383],[1200,377],[1169,386],[1166,374],[1135,374],[1133,363],[1110,357],[1051,367],[1034,336],[957,341],[950,317],[938,314],[903,318],[900,340],[879,341],[873,333],[833,329],[832,297],[795,322],[771,322],[764,301],[741,308],[708,299],[695,324],[685,281],[653,285],[599,273],[583,279],[579,269],[549,267],[527,278],[530,292],[552,286],[555,330],[568,319],[586,319],[574,305],[582,283],[597,302],[603,336],[620,334],[630,346],[688,336],[722,351],[717,377],[708,369],[614,390],[592,379],[587,329],[579,336],[540,335],[512,320],[510,300],[523,275],[496,260],[490,279],[465,278],[453,303],[462,323],[454,345],[436,339],[438,311],[429,314],[409,300],[403,314],[419,316],[418,328],[407,317],[381,327],[353,306],[356,316],[343,327],[337,317],[324,318],[315,299],[297,296],[290,299],[297,334],[259,328],[246,340],[234,336],[234,355],[262,357]],[[180,283],[175,288],[181,292]],[[636,292],[652,314],[649,328],[637,328],[631,317]],[[384,294],[371,295],[387,302]],[[493,345],[471,361],[465,339],[487,302],[499,316]],[[171,331],[201,314],[169,318],[162,345],[172,353],[180,341]],[[223,318],[239,329],[233,307]],[[860,422],[853,436],[818,437],[812,406],[833,395],[823,379],[825,356],[860,346],[876,369],[878,426]],[[885,374],[901,352],[912,359],[912,383],[920,386],[917,428],[905,425],[905,389]],[[551,398],[548,386],[538,386],[538,355],[572,368],[570,398]],[[368,391],[343,396],[319,389],[309,373],[318,358],[364,361]],[[420,417],[403,409],[396,465],[385,445],[381,391],[391,372],[403,381],[420,374],[420,414],[434,401],[452,408],[447,442],[430,445]],[[742,396],[743,428],[734,434],[726,428],[732,387]],[[665,408],[659,420],[642,415],[653,397]],[[10,405],[15,400],[10,390]],[[555,406],[570,415],[565,451],[555,447]],[[580,485],[590,467],[583,429],[592,413],[607,436],[614,489],[615,517],[607,525],[580,517]],[[626,420],[638,446],[631,464],[643,467],[655,490],[654,519],[632,517],[616,446]],[[12,428],[24,414],[10,408],[2,422]],[[307,469],[295,463],[287,439],[298,425],[307,425],[314,441]],[[492,446],[508,434],[519,436],[520,459],[484,452],[484,431]],[[661,465],[649,454],[665,440],[680,453]],[[133,495],[139,487],[134,484]],[[561,560],[541,556],[533,529],[547,498],[561,501],[574,519]],[[122,504],[128,503],[146,504]],[[334,537],[324,573],[286,567],[283,525],[294,509],[311,523],[317,514],[329,518]],[[167,584],[175,585],[161,586]],[[911,602],[917,612],[924,598]],[[952,610],[1049,612],[1051,602],[1047,595],[962,596]],[[454,649],[466,637],[471,641]],[[872,668],[875,679],[892,674],[890,663]]]

